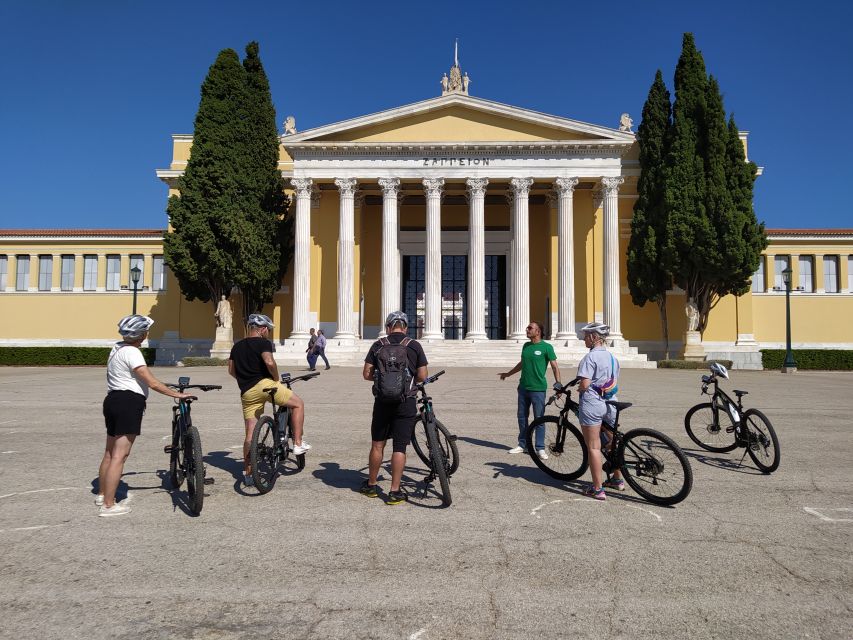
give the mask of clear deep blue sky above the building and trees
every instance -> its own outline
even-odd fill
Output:
[[[851,3],[819,0],[10,0],[0,227],[164,227],[154,171],[226,47],[260,43],[278,121],[300,130],[438,95],[457,37],[471,95],[615,127],[639,124],[656,69],[672,89],[692,31],[764,167],[759,220],[850,228],[851,24]]]

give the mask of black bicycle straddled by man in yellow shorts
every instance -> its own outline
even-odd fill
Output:
[[[306,373],[304,376],[292,378],[289,373],[281,374],[281,381],[290,389],[294,382],[310,380],[320,375],[319,371]],[[293,421],[287,406],[275,404],[277,387],[264,389],[270,395],[273,406],[272,416],[261,416],[252,434],[252,445],[249,448],[249,464],[252,466],[252,479],[260,493],[267,493],[275,485],[279,473],[279,465],[283,465],[293,454]],[[297,469],[305,468],[305,454],[292,456]]]

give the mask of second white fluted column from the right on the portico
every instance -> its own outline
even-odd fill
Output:
[[[557,178],[557,339],[575,333],[574,192],[577,178]]]

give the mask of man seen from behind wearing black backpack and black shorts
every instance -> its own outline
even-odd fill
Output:
[[[403,468],[406,466],[406,446],[412,440],[418,408],[412,388],[427,376],[427,359],[416,340],[406,335],[409,319],[402,311],[393,311],[385,319],[387,336],[370,347],[364,358],[362,375],[373,382],[373,422],[368,478],[361,485],[361,493],[368,498],[379,496],[376,482],[388,438],[393,440],[391,455],[391,490],[386,504],[401,504],[407,500],[400,488]]]

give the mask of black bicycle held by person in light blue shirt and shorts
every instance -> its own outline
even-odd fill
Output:
[[[527,428],[527,451],[537,467],[552,478],[574,480],[582,476],[589,466],[589,451],[578,427],[570,416],[577,416],[579,405],[572,400],[570,387],[578,383],[575,378],[551,396],[545,406],[563,399],[559,415],[536,418]],[[630,407],[630,402],[605,401],[616,409],[612,425],[602,426],[609,436],[602,446],[604,472],[610,478],[619,470],[628,485],[649,502],[673,505],[684,500],[693,488],[693,470],[690,462],[675,441],[654,429],[619,431],[619,415]],[[559,405],[558,405],[559,406]],[[536,432],[544,429],[544,449],[535,446]]]

